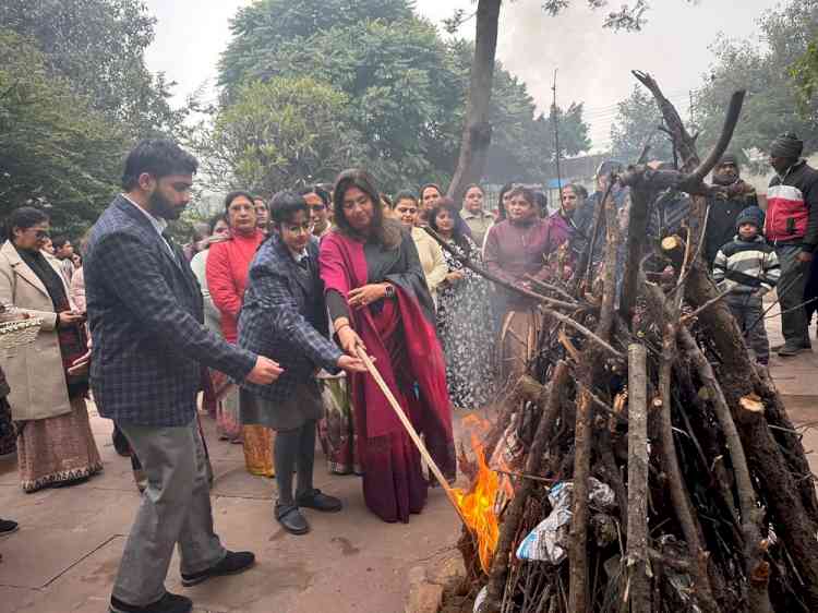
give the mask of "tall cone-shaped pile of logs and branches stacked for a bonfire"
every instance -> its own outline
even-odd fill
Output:
[[[513,495],[494,507],[488,556],[485,534],[464,529],[467,590],[481,592],[483,612],[818,611],[805,452],[699,253],[706,196],[718,189],[702,181],[744,94],[701,161],[655,81],[634,74],[662,110],[681,169],[645,166],[646,151],[613,178],[630,188],[626,238],[606,197],[568,284],[514,289],[538,297],[543,333],[484,441],[486,458],[509,437],[522,450],[503,467]],[[667,188],[691,195],[690,218],[653,244],[647,219]]]

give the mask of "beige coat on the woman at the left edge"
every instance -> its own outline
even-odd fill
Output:
[[[45,255],[65,285],[59,260]],[[65,296],[70,296],[68,286]],[[12,418],[23,421],[70,412],[68,384],[57,338],[57,313],[43,281],[9,241],[0,248],[0,303],[14,305],[43,320],[43,327],[34,342],[13,349],[0,347],[0,365],[11,386],[8,399]]]

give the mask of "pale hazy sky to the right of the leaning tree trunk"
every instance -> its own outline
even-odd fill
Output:
[[[627,98],[636,84],[630,70],[652,73],[686,115],[689,92],[700,85],[713,61],[708,47],[723,36],[720,31],[731,37],[748,36],[756,31],[755,20],[777,2],[746,0],[741,10],[737,2],[714,0],[653,0],[651,4],[642,32],[616,33],[602,27],[605,9],[592,11],[586,0],[574,0],[556,17],[549,16],[538,1],[504,2],[497,58],[526,82],[541,110],[551,105],[557,69],[557,104],[585,103],[593,151],[602,151],[610,143],[616,103]]]

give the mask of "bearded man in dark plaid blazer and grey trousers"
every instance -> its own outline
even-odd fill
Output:
[[[196,279],[164,233],[190,202],[196,167],[172,142],[140,143],[125,160],[124,193],[92,230],[84,264],[94,398],[128,437],[148,481],[113,586],[115,613],[192,609],[190,599],[165,589],[176,543],[184,586],[254,562],[250,552],[227,551],[213,531],[196,393],[202,364],[256,384],[282,370],[202,324]]]

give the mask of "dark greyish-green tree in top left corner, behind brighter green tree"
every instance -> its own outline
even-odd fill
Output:
[[[184,119],[168,103],[172,84],[145,65],[154,22],[140,0],[0,2],[0,27],[32,39],[53,74],[133,139],[172,133]]]

